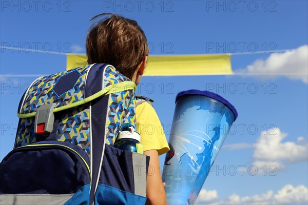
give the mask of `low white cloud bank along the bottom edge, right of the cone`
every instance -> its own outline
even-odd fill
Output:
[[[241,197],[234,193],[228,198],[218,197],[216,190],[202,189],[196,204],[307,204],[308,189],[304,185],[293,187],[285,185],[275,194],[273,190],[268,190],[263,194]]]

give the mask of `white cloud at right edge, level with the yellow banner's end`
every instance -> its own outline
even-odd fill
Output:
[[[308,45],[284,53],[272,53],[267,59],[258,59],[240,73],[284,75],[308,83]],[[264,76],[262,76],[264,77]]]

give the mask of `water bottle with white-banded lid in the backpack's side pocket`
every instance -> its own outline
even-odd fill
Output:
[[[119,132],[117,140],[115,140],[113,147],[120,150],[127,150],[131,152],[137,152],[137,145],[140,143],[140,135],[134,131],[134,127],[131,124],[123,124],[122,129]]]

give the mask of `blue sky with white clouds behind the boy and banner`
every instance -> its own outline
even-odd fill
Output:
[[[251,53],[232,56],[238,73],[232,76],[143,77],[138,88],[155,100],[167,139],[180,91],[216,92],[237,108],[199,203],[307,203],[307,7],[307,1],[1,1],[0,159],[12,149],[17,106],[35,79],[16,75],[64,70],[66,56],[49,51],[85,53],[90,18],[112,12],[137,20],[150,54]],[[280,49],[295,50],[272,53]]]

